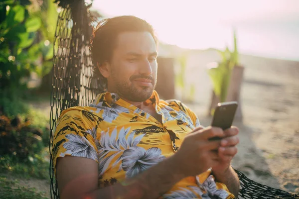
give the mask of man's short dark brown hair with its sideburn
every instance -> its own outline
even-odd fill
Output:
[[[155,43],[157,38],[153,27],[145,20],[136,16],[117,16],[102,20],[96,27],[91,41],[91,52],[95,75],[99,78],[103,88],[107,86],[107,79],[102,76],[98,65],[110,61],[113,49],[116,46],[117,36],[122,32],[144,32],[147,31],[153,37]]]

